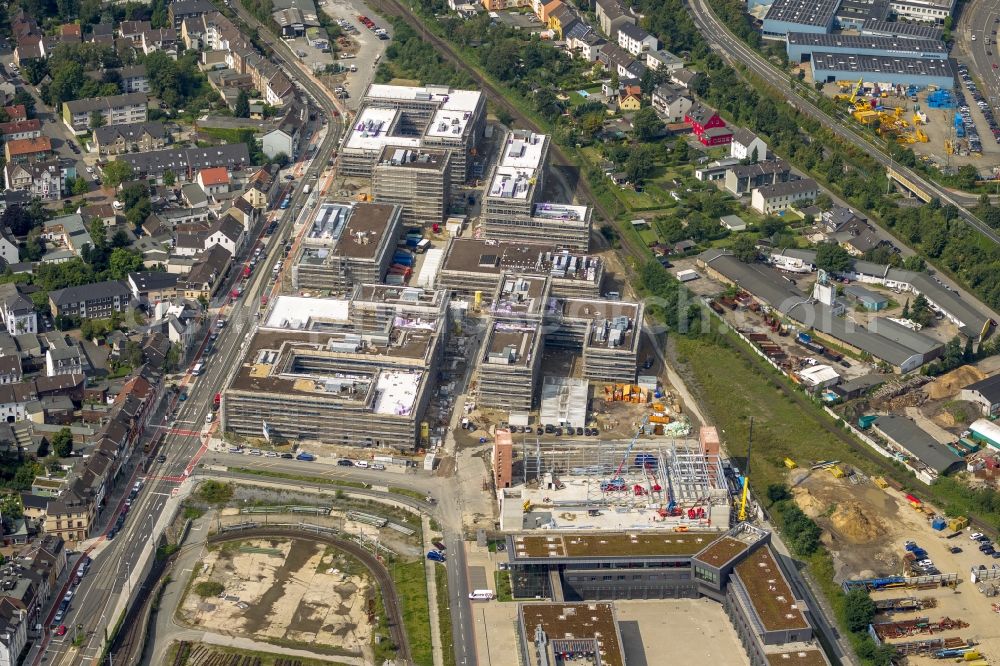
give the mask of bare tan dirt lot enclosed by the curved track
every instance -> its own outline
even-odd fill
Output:
[[[202,599],[203,581],[225,586]],[[208,631],[341,648],[371,659],[368,577],[353,560],[302,541],[251,540],[206,554],[179,613]]]

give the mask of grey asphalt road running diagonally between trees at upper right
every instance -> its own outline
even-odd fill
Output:
[[[994,243],[1000,244],[1000,235],[966,208],[966,206],[974,206],[979,199],[978,196],[941,187],[936,183],[924,179],[913,170],[900,166],[867,138],[855,132],[855,128],[845,126],[837,119],[827,115],[825,111],[803,97],[797,89],[793,89],[788,81],[788,73],[769,63],[763,56],[730,33],[729,29],[712,12],[706,0],[691,0],[688,6],[691,8],[691,15],[698,30],[705,36],[708,44],[722,54],[724,58],[730,62],[738,62],[746,66],[756,76],[764,79],[769,85],[782,93],[785,99],[789,103],[792,103],[801,113],[812,116],[823,123],[842,140],[867,152],[883,167],[892,168],[902,174],[905,178],[923,188],[931,196],[936,197],[942,204],[955,206],[962,220]]]

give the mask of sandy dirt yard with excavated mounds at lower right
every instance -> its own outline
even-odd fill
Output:
[[[937,621],[943,617],[962,620],[969,626],[948,630],[935,636],[960,637],[974,641],[990,663],[1000,660],[1000,623],[988,598],[969,582],[974,566],[993,566],[996,560],[984,557],[969,540],[970,530],[948,539],[948,530],[931,529],[928,516],[914,511],[893,490],[882,490],[871,483],[854,485],[845,479],[835,479],[826,471],[793,470],[790,483],[796,501],[804,512],[813,516],[824,529],[823,540],[834,557],[838,580],[900,574],[906,541],[913,540],[927,551],[942,573],[958,574],[958,586],[933,590],[895,589],[875,592],[875,599],[900,597],[933,597],[936,606],[913,613],[897,613],[879,617],[878,622],[901,621],[927,617]],[[797,482],[797,483],[796,483]],[[953,546],[962,548],[951,553]],[[918,640],[924,635],[901,640]],[[898,641],[890,641],[898,642]],[[927,657],[910,657],[908,664],[941,663]]]

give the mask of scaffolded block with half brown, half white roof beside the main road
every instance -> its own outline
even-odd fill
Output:
[[[356,284],[381,282],[401,230],[400,206],[321,205],[295,255],[292,287],[350,294]]]

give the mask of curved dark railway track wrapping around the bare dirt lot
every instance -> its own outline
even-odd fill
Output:
[[[269,538],[313,541],[334,546],[356,557],[371,572],[375,578],[375,582],[378,584],[379,590],[382,592],[382,602],[388,616],[386,620],[389,626],[389,634],[393,644],[396,646],[396,663],[401,665],[413,663],[410,657],[410,644],[406,637],[406,627],[403,624],[403,607],[399,602],[399,596],[396,594],[396,586],[392,582],[392,576],[378,558],[353,541],[328,534],[317,534],[289,527],[252,527],[231,532],[222,532],[208,537],[207,541],[208,543],[223,543],[226,541]]]

